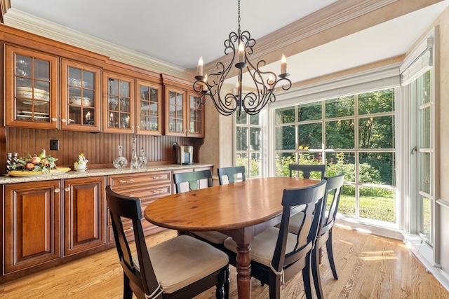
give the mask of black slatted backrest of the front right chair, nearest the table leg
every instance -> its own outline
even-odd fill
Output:
[[[283,212],[279,236],[276,242],[272,265],[277,271],[282,267],[296,263],[311,252],[316,242],[316,236],[322,224],[322,216],[326,211],[326,180],[314,186],[283,191]],[[297,232],[295,250],[286,252],[290,211],[293,207],[304,205],[304,218]]]

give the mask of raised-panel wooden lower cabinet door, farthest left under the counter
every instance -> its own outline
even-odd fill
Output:
[[[60,194],[59,180],[5,186],[6,274],[61,257]]]

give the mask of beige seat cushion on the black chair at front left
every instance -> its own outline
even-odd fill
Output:
[[[173,293],[188,286],[229,262],[226,253],[188,235],[149,247],[148,252],[164,293]],[[133,263],[140,270],[137,254],[133,256]]]

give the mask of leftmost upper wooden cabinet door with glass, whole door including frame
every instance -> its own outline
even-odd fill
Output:
[[[6,125],[58,128],[58,57],[5,46]]]

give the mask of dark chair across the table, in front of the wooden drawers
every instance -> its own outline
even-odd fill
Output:
[[[212,171],[210,169],[199,171],[199,172],[182,172],[179,174],[173,174],[173,181],[176,186],[176,193],[182,192],[182,184],[187,183],[189,186],[188,190],[198,190],[200,187],[199,181],[207,181],[207,187],[212,186]],[[184,189],[186,190],[186,188]],[[227,235],[221,232],[187,232],[188,235],[192,237],[199,238],[213,246],[225,250],[223,242],[227,239]]]

